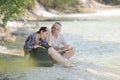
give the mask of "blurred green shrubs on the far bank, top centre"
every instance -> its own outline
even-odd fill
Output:
[[[49,7],[58,11],[75,7],[79,3],[78,0],[39,0],[39,2],[46,8]]]

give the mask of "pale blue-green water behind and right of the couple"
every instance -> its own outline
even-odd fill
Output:
[[[58,20],[75,58],[120,71],[120,16]],[[49,28],[56,21],[37,22]],[[38,29],[38,28],[37,28]]]

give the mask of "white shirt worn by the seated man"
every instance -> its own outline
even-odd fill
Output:
[[[57,38],[55,38],[52,34],[50,35],[50,45],[53,47],[61,47],[62,45],[67,45],[67,43],[64,36],[59,33]]]

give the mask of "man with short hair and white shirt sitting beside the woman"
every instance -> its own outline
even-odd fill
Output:
[[[67,59],[74,55],[74,49],[70,47],[61,32],[61,24],[56,22],[51,27],[50,45]],[[62,46],[61,46],[62,45]]]

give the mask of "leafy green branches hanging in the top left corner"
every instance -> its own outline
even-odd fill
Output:
[[[0,0],[0,17],[2,17],[3,26],[8,20],[17,20],[24,15],[26,8],[33,6],[35,0]]]

